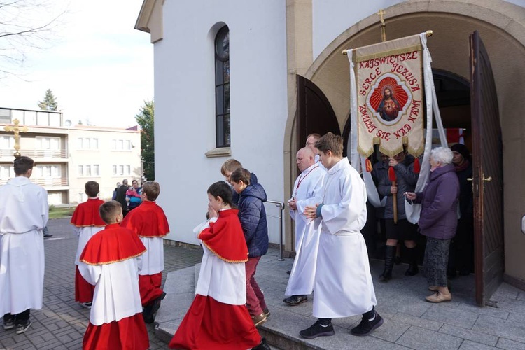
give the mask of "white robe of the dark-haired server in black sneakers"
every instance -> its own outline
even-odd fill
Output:
[[[343,158],[325,176],[321,190],[321,237],[314,285],[314,316],[363,314],[377,304],[365,239],[366,188]]]

